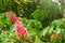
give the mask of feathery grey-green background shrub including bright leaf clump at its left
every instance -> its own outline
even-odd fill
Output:
[[[31,16],[34,19],[40,20],[42,23],[42,26],[46,27],[50,25],[53,19],[62,18],[63,13],[56,3],[41,0],[39,9],[36,10]]]

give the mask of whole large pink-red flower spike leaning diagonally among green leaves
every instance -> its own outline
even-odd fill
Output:
[[[28,37],[28,31],[23,26],[21,18],[16,15],[12,14],[11,12],[6,13],[6,16],[10,18],[10,20],[15,25],[15,31],[17,33],[17,37],[21,38],[22,35]]]

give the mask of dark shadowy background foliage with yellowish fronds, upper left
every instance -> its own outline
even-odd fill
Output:
[[[15,12],[21,17],[29,18],[40,0],[0,0],[0,12]]]

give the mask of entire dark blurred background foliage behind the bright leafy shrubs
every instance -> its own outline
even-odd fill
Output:
[[[58,4],[51,0],[0,0],[0,5],[1,13],[12,11],[20,17],[40,20],[44,27],[63,17]]]

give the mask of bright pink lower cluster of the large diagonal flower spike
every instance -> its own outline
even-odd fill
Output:
[[[28,31],[26,30],[26,28],[18,23],[15,23],[15,31],[16,31],[18,38],[21,38],[22,34],[24,37],[28,37]]]

